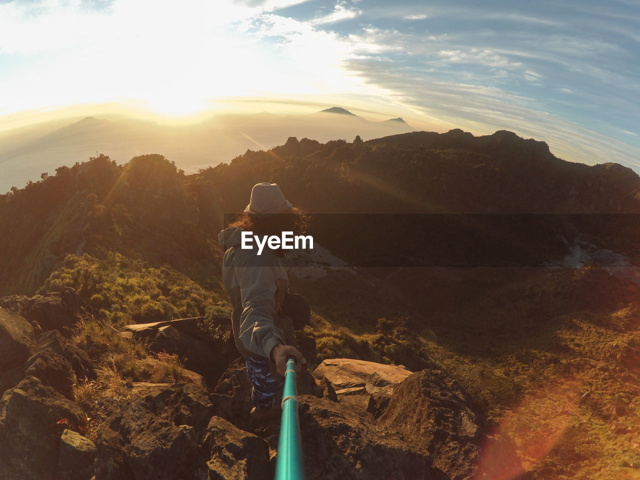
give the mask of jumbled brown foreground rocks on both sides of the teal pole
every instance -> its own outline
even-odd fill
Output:
[[[134,324],[113,335],[134,346],[143,335],[157,338],[169,327],[178,332],[180,352],[197,356],[203,341],[184,332],[193,333],[195,323]],[[92,360],[58,330],[36,338],[28,319],[7,308],[0,309],[0,331],[13,351],[1,371],[6,378],[0,401],[3,480],[273,478],[279,419],[252,422],[241,364],[222,372],[215,388],[194,380],[204,374],[211,381],[207,367],[182,369],[170,382],[111,385],[110,399],[117,404],[106,406],[109,412],[95,422],[90,417],[95,409],[81,406],[77,386],[100,379],[93,364],[100,355]],[[153,365],[170,363],[165,356]],[[412,373],[337,358],[299,378],[308,479],[470,479],[483,446],[498,441],[483,432],[468,395],[443,371]],[[522,470],[513,449],[508,461]]]

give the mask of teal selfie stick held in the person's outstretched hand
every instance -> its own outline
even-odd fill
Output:
[[[304,480],[302,444],[298,420],[298,390],[296,388],[296,362],[287,361],[282,391],[282,420],[276,460],[276,480]]]

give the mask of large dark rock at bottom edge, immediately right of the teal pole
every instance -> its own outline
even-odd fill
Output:
[[[419,447],[380,428],[371,416],[326,398],[301,396],[300,431],[307,480],[444,480]]]

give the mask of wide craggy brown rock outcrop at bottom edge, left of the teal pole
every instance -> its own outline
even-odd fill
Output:
[[[134,388],[136,385],[134,385]],[[146,384],[100,426],[100,480],[260,479],[271,476],[269,446],[219,417],[207,390]]]

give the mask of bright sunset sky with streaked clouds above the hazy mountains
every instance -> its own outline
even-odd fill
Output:
[[[0,0],[0,130],[342,106],[640,172],[639,52],[639,0]]]

